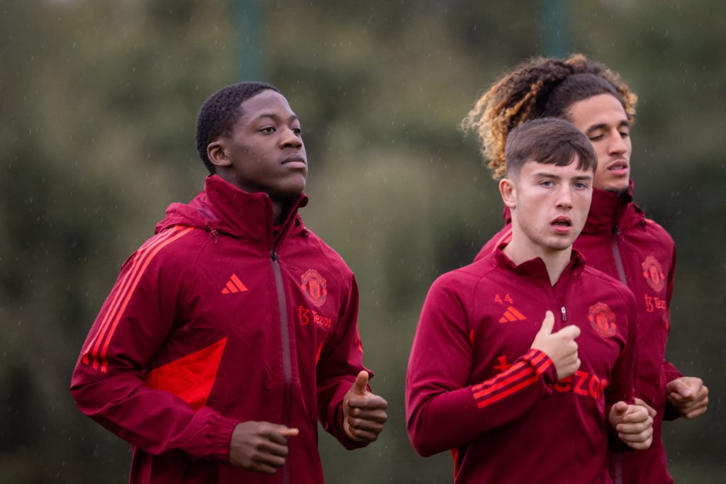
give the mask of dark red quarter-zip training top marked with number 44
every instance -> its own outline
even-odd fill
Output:
[[[558,381],[531,349],[547,310],[552,332],[576,324],[579,369]],[[632,403],[635,301],[573,251],[552,286],[539,258],[502,252],[440,276],[409,358],[409,438],[423,456],[451,450],[455,483],[611,483],[617,401]]]

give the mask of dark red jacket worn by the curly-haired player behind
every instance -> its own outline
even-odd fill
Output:
[[[477,259],[491,253],[511,234],[509,214],[505,227],[481,249]],[[666,403],[666,383],[682,374],[665,360],[670,329],[676,250],[673,239],[658,223],[645,217],[632,200],[632,181],[627,194],[595,189],[582,234],[574,247],[588,265],[627,286],[637,303],[637,367],[635,395],[656,410],[653,444],[645,451],[611,455],[611,473],[616,484],[668,484],[666,450],[661,423],[678,414]]]

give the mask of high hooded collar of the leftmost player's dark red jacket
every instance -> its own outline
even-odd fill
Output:
[[[290,204],[282,232],[301,226],[298,208],[307,205],[301,194]],[[188,205],[172,203],[157,231],[172,225],[187,225],[224,232],[234,237],[272,239],[274,237],[272,200],[266,193],[243,192],[217,175],[207,176],[204,190]]]

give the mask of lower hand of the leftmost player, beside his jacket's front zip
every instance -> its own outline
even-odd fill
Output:
[[[229,442],[229,464],[273,474],[285,464],[287,438],[299,430],[270,422],[242,422],[234,427]]]

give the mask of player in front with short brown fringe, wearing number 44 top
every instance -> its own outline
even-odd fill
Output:
[[[653,419],[633,401],[632,292],[572,249],[597,158],[575,126],[544,118],[513,130],[506,159],[512,237],[433,283],[409,437],[424,456],[451,450],[455,483],[611,483],[606,449],[648,448]]]

